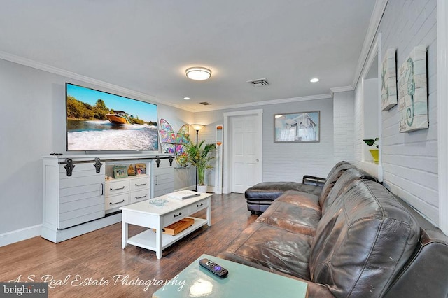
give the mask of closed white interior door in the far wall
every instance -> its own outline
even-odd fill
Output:
[[[244,193],[262,181],[262,115],[236,115],[230,118],[231,192]]]

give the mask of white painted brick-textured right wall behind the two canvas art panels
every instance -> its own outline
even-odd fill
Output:
[[[437,20],[436,0],[388,1],[379,25],[381,53],[396,48],[399,67],[416,45],[426,45],[429,129],[400,133],[398,106],[381,112],[384,185],[438,223],[437,185]],[[355,121],[362,122],[360,87],[356,88]],[[359,125],[360,126],[360,125]],[[360,127],[355,126],[356,136]],[[360,160],[360,139],[356,160]]]

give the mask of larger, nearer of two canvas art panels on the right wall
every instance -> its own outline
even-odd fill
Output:
[[[398,104],[400,132],[428,128],[426,45],[416,46],[400,66]]]

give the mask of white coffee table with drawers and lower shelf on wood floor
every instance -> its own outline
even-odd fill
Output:
[[[120,207],[122,211],[122,248],[127,244],[154,250],[158,259],[162,250],[204,225],[211,226],[211,194],[201,194],[190,199],[169,199],[166,195]],[[160,206],[158,206],[160,205]],[[163,227],[207,208],[207,218],[193,218],[195,223],[174,236],[163,234]],[[128,225],[148,227],[144,232],[128,239]],[[153,231],[155,229],[155,232]]]

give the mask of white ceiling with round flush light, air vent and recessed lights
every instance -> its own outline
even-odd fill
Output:
[[[0,57],[207,111],[352,86],[375,0],[0,0]],[[211,79],[186,77],[205,66]],[[318,83],[309,83],[313,77]],[[248,80],[266,78],[269,86]],[[183,97],[190,97],[189,101]],[[210,106],[202,106],[208,101]]]

